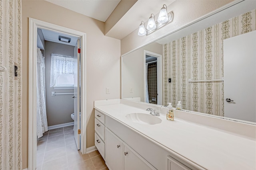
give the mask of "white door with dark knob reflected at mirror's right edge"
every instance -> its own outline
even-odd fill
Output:
[[[224,115],[256,121],[256,31],[224,40]]]

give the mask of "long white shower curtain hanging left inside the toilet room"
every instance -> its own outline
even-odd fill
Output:
[[[44,72],[44,57],[37,49],[37,79],[36,79],[36,131],[37,137],[43,136],[43,133],[48,131],[47,117],[46,117],[46,93],[45,93],[45,72]]]

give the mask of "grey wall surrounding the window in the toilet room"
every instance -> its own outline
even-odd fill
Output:
[[[52,96],[56,93],[74,93],[74,89],[55,89],[50,87],[51,54],[74,57],[74,46],[45,41],[45,89],[46,115],[48,126],[73,122],[70,114],[74,113],[74,94]]]

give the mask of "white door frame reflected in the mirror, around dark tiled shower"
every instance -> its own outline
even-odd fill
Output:
[[[163,93],[162,93],[162,55],[151,51],[144,50],[144,101],[146,101],[146,55],[156,57],[156,69],[157,69],[157,104],[162,105]]]

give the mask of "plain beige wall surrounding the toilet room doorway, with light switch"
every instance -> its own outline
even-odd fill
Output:
[[[86,33],[87,147],[94,146],[94,100],[120,98],[120,40],[104,36],[104,23],[43,0],[22,0],[22,169],[28,167],[29,17]]]

